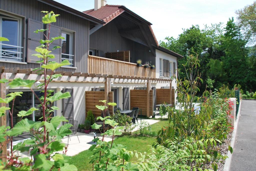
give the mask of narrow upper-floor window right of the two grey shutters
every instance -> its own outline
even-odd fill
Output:
[[[64,39],[61,39],[61,60],[69,60],[71,64],[68,66],[74,67],[73,33],[62,30],[61,36],[64,37]]]

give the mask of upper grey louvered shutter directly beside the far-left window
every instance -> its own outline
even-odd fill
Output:
[[[43,29],[43,24],[41,21],[36,21],[28,19],[28,47],[27,47],[27,62],[36,63],[40,59],[32,54],[37,54],[35,51],[37,46],[40,46],[40,40],[43,38],[43,33],[34,33],[37,29]]]

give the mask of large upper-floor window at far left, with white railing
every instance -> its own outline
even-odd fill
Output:
[[[22,19],[0,13],[0,37],[9,41],[0,43],[0,58],[2,60],[22,61]]]

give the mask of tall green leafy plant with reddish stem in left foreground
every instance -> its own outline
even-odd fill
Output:
[[[51,23],[56,22],[56,17],[58,14],[54,14],[53,11],[42,11],[46,13],[42,17],[42,22],[48,25],[48,29],[36,30],[35,33],[48,31],[50,33]],[[63,116],[52,116],[51,112],[58,110],[57,107],[53,106],[53,102],[60,99],[69,98],[69,93],[58,92],[52,96],[52,90],[48,89],[49,83],[52,81],[52,78],[60,77],[60,74],[53,74],[53,71],[63,65],[69,64],[67,60],[56,63],[50,61],[54,58],[54,55],[51,54],[51,49],[49,45],[55,40],[63,39],[63,37],[53,37],[50,38],[50,34],[44,34],[45,40],[41,40],[41,45],[35,49],[37,54],[33,56],[38,57],[38,62],[42,63],[40,68],[36,68],[35,71],[38,74],[43,75],[44,82],[40,84],[39,89],[43,89],[41,93],[44,93],[44,96],[38,98],[35,91],[31,88],[35,83],[35,80],[22,80],[16,78],[9,83],[11,88],[16,87],[27,87],[35,97],[39,100],[40,104],[38,107],[42,110],[42,121],[34,122],[28,120],[27,118],[23,119],[24,116],[31,115],[33,111],[38,110],[36,108],[31,108],[28,111],[18,112],[18,116],[21,119],[14,125],[13,122],[13,109],[15,106],[15,99],[17,96],[22,96],[22,92],[14,92],[7,95],[7,98],[1,98],[2,103],[8,104],[12,101],[11,108],[1,107],[1,116],[5,114],[6,110],[9,110],[10,115],[10,127],[1,126],[0,142],[7,144],[10,142],[10,153],[8,155],[3,155],[2,157],[6,159],[6,162],[2,162],[1,169],[6,170],[10,168],[12,170],[41,170],[48,171],[54,168],[59,170],[71,170],[76,171],[77,168],[68,164],[67,161],[70,157],[66,156],[67,146],[65,143],[61,143],[61,139],[64,136],[70,135],[72,132],[69,129],[71,124],[64,124],[59,127],[60,123],[68,122]],[[7,41],[4,38],[0,38],[0,41]],[[59,47],[56,47],[59,48]],[[48,69],[51,71],[48,72]],[[48,74],[48,75],[47,75]],[[1,82],[6,82],[6,80],[1,80]],[[59,127],[59,128],[58,128]],[[10,129],[7,131],[7,129]],[[16,145],[13,145],[13,137],[22,135],[23,133],[30,133],[32,135],[31,139],[24,140]],[[17,152],[27,152],[29,155],[35,155],[34,161],[30,157],[23,157],[17,155]],[[63,151],[59,153],[58,151]],[[34,162],[34,165],[33,165]]]

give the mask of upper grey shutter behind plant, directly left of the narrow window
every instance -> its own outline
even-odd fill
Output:
[[[47,24],[47,29],[49,29],[49,24]],[[46,35],[48,36],[48,30],[46,31]],[[51,25],[49,40],[51,40],[52,37],[58,37],[60,35],[61,35],[61,28],[56,25]],[[55,46],[61,47],[61,40],[62,39],[55,40],[52,44],[50,44],[49,50],[52,50]],[[58,63],[61,62],[61,48],[52,50],[51,54],[53,54],[55,58],[50,59],[50,61],[55,61]]]

